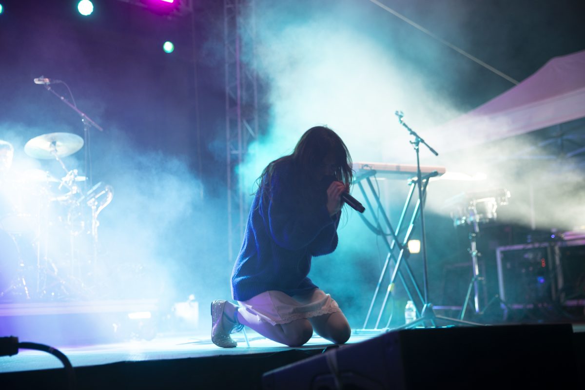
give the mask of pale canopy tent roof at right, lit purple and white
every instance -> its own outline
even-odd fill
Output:
[[[553,58],[491,101],[429,130],[426,138],[449,152],[579,118],[585,118],[585,50]]]

